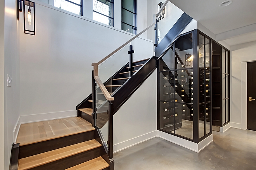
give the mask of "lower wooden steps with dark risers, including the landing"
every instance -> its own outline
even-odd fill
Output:
[[[71,121],[72,118],[72,121]],[[49,128],[52,133],[58,131],[68,131],[43,137],[34,140],[24,141],[28,136],[35,136],[35,132],[27,132],[26,128],[33,126],[33,131],[37,128],[42,136],[42,131],[50,133],[46,129],[45,122],[22,124],[17,142],[19,143],[18,170],[109,170],[109,159],[107,158],[100,136],[92,124],[81,117],[71,117],[70,119],[56,119],[52,121]],[[50,121],[49,121],[50,122]],[[75,122],[75,123],[72,123]],[[32,124],[32,125],[31,125]],[[44,124],[44,126],[43,126]],[[61,128],[65,124],[68,128]],[[74,125],[76,124],[76,125]],[[23,126],[25,126],[23,128]],[[75,130],[80,127],[80,130]],[[40,129],[41,128],[41,129]],[[105,158],[105,159],[104,159]]]

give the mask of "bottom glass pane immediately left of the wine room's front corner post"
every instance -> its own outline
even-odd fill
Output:
[[[192,105],[176,103],[175,133],[193,139]]]

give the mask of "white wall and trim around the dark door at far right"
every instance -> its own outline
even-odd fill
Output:
[[[256,61],[256,41],[231,46],[231,122],[232,126],[246,129],[246,62]]]

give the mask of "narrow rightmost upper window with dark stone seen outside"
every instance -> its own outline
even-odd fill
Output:
[[[122,30],[137,34],[137,0],[122,0]]]

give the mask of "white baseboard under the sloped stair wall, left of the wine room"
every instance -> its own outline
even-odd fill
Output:
[[[131,146],[137,145],[149,139],[155,138],[157,136],[157,131],[152,131],[150,133],[143,134],[136,138],[129,139],[127,141],[123,141],[121,143],[117,143],[113,145],[113,153],[119,152],[126,148],[130,148]]]

